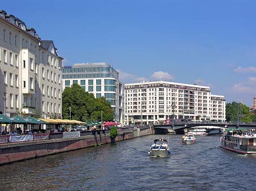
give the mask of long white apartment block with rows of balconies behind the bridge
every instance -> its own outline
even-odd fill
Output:
[[[175,82],[125,84],[125,124],[163,123],[167,119],[225,121],[224,96],[207,86]]]

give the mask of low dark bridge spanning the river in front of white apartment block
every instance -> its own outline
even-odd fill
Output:
[[[232,124],[232,123],[217,123],[217,122],[175,122],[174,124],[162,124],[154,125],[155,134],[166,134],[168,129],[175,130],[176,134],[183,134],[184,129],[194,128],[196,126],[216,126],[220,128],[246,128],[246,129],[256,129],[256,124],[242,123],[242,124]]]

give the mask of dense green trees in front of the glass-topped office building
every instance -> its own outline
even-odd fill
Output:
[[[79,84],[66,87],[62,94],[62,113],[64,119],[69,119],[69,107],[71,107],[71,119],[79,121],[112,121],[113,111],[105,97],[95,98],[93,94],[85,92]]]

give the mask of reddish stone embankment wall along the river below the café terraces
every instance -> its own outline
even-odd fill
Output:
[[[33,142],[7,143],[0,145],[0,164],[16,162],[59,152],[77,150],[91,146],[102,145],[144,135],[153,134],[151,128],[119,131],[118,136],[110,138],[109,133],[97,133],[76,138],[49,139]]]

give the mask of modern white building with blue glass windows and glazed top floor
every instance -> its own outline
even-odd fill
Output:
[[[108,63],[76,63],[63,66],[63,90],[72,84],[79,84],[94,97],[104,96],[111,104],[114,121],[123,122],[124,84],[118,78],[118,71]]]

